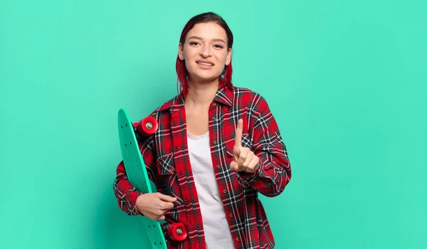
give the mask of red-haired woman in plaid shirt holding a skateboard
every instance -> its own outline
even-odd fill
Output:
[[[231,84],[232,46],[220,16],[189,20],[176,58],[181,92],[152,112],[159,129],[139,144],[158,193],[139,193],[117,167],[123,211],[165,220],[164,231],[186,226],[188,238],[168,240],[168,248],[275,247],[258,193],[282,193],[290,163],[265,99]]]

